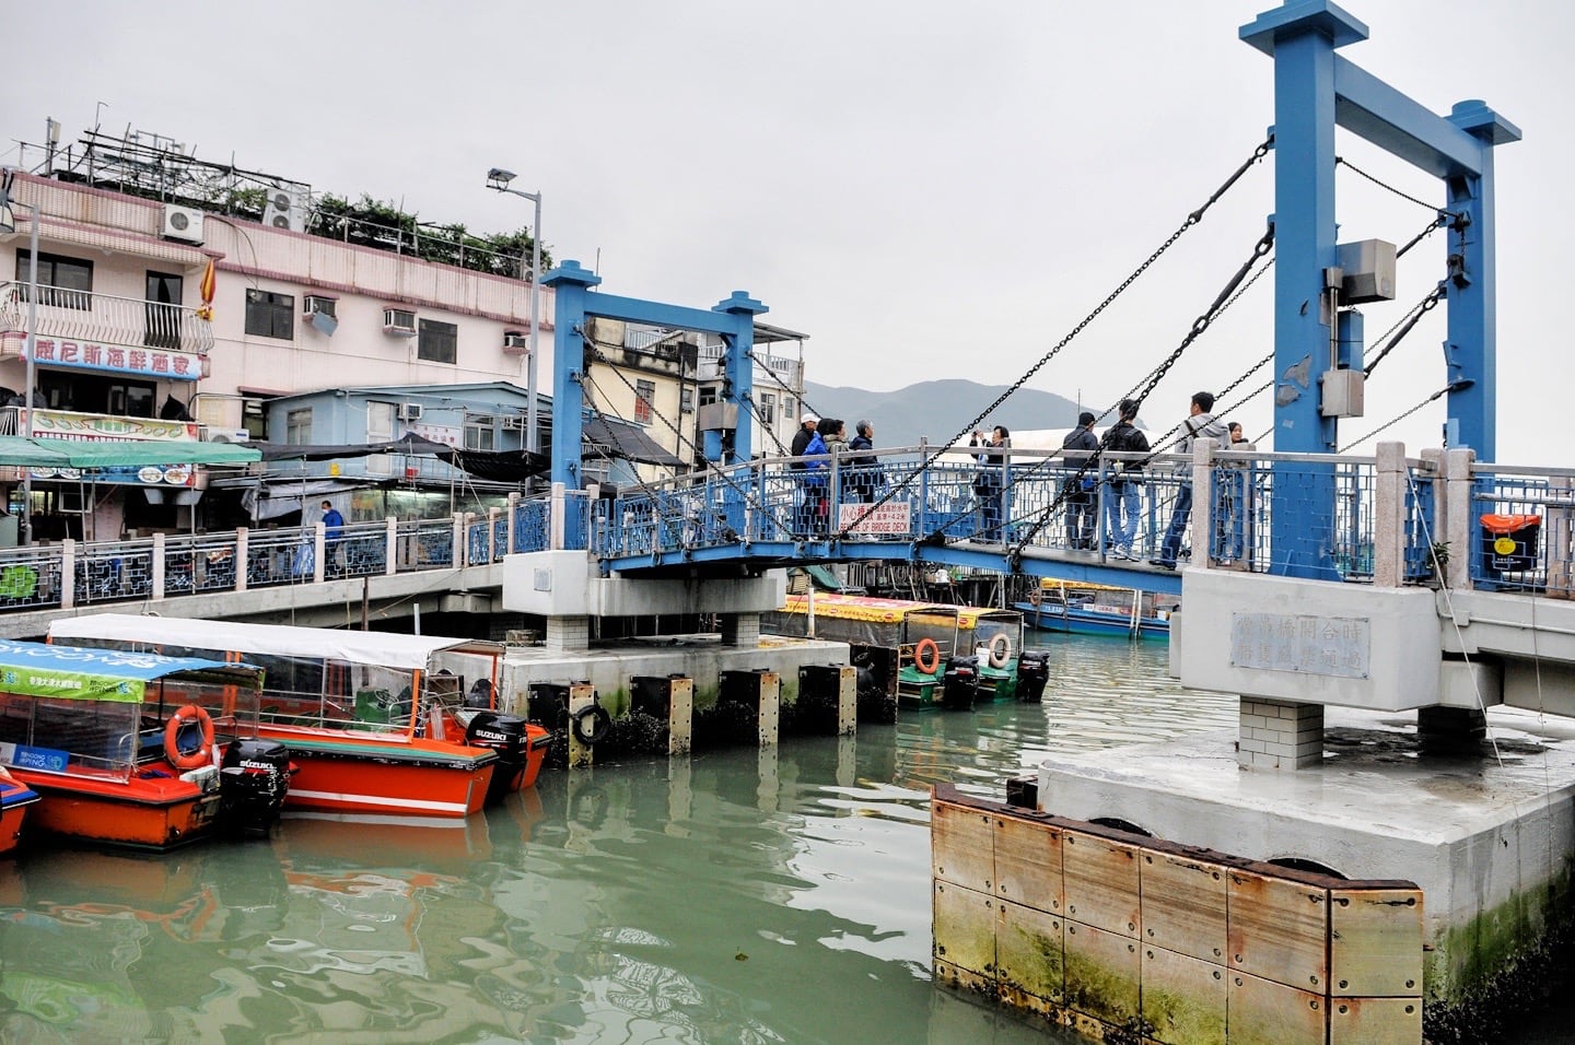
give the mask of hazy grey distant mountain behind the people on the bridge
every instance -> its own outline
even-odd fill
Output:
[[[866,392],[805,381],[803,398],[805,408],[821,417],[846,420],[849,438],[854,436],[854,422],[866,419],[876,426],[876,445],[907,447],[917,445],[920,438],[936,444],[953,438],[1005,390],[1003,384],[961,379],[921,381],[896,392]],[[1063,395],[1017,389],[978,426],[989,430],[992,425],[1006,425],[1013,433],[1028,430],[1066,433],[1077,423],[1077,403]],[[1102,425],[1099,428],[1102,430]],[[1055,445],[1060,445],[1058,438]]]

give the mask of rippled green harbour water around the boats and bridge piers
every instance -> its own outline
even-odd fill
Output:
[[[550,773],[463,825],[27,853],[0,864],[0,1040],[1074,1040],[932,988],[928,788],[995,796],[1235,705],[1162,650],[1052,656],[1043,705]]]

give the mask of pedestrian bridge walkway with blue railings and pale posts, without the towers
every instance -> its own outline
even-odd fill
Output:
[[[304,607],[345,601],[346,582],[381,590],[421,578],[433,590],[438,574],[450,574],[454,590],[474,590],[480,578],[501,584],[482,568],[547,549],[583,551],[600,576],[627,579],[912,562],[1166,593],[1181,593],[1188,568],[1545,596],[1567,596],[1575,585],[1575,472],[1480,464],[1468,452],[1406,458],[1399,444],[1377,456],[1200,447],[1195,460],[1106,452],[1082,466],[1060,452],[1013,450],[981,467],[967,453],[920,445],[880,452],[873,463],[868,453],[825,458],[816,486],[794,464],[767,458],[636,489],[554,488],[487,518],[356,522],[337,541],[318,524],[5,549],[0,620],[269,592],[272,604],[284,596]],[[1183,570],[1150,565],[1188,483],[1197,496]],[[1109,548],[1110,507],[1123,494],[1136,508],[1131,560]],[[1309,510],[1314,504],[1328,507]],[[1287,535],[1273,526],[1276,511],[1312,522]],[[20,622],[0,626],[11,633]]]

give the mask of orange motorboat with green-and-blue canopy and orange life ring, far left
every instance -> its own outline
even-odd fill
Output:
[[[39,831],[167,850],[266,828],[288,752],[257,735],[261,670],[198,658],[0,641],[0,766]]]

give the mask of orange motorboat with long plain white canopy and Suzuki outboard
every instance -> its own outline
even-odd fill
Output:
[[[49,636],[263,666],[258,732],[298,766],[290,809],[465,817],[534,784],[547,755],[547,730],[496,707],[496,642],[126,614]]]

